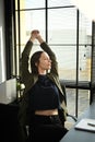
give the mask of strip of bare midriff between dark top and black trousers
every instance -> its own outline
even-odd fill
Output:
[[[58,115],[58,109],[50,109],[50,110],[35,110],[35,115],[41,115],[41,116],[54,116],[54,115]]]

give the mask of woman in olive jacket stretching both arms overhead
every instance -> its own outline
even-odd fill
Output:
[[[39,42],[43,50],[32,56],[29,72],[28,59],[35,39]],[[59,82],[56,56],[36,29],[32,32],[22,54],[22,81],[25,92],[19,119],[22,128],[29,126],[29,142],[59,142],[68,131],[64,128],[64,94]],[[61,109],[62,117],[59,115]]]

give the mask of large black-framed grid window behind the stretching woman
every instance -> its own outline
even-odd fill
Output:
[[[72,105],[71,113],[75,116],[81,115],[83,100],[85,99],[86,104],[82,110],[90,104],[87,84],[91,82],[92,22],[78,11],[70,0],[17,2],[15,0],[17,75],[20,55],[29,38],[31,31],[38,28],[57,55],[59,75],[67,86],[68,107]],[[34,51],[38,48],[38,43],[35,43]],[[72,104],[69,104],[71,102]]]

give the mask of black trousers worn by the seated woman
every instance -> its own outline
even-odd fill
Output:
[[[29,123],[29,142],[59,142],[68,130],[59,116],[35,115]]]

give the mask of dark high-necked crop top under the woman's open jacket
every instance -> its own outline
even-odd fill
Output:
[[[28,92],[32,110],[47,110],[60,107],[59,91],[46,76],[39,75],[36,84]]]

